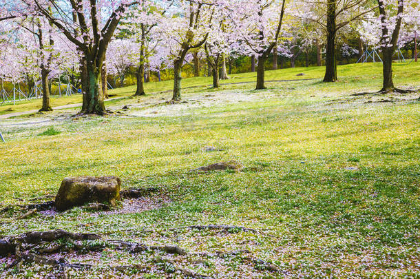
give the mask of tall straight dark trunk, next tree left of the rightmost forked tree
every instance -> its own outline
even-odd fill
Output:
[[[324,82],[337,81],[337,62],[335,60],[335,1],[336,0],[327,0]]]

